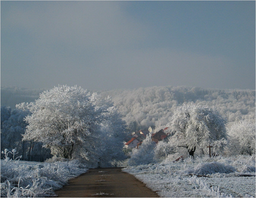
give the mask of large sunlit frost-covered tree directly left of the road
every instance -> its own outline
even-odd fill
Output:
[[[53,155],[69,159],[101,119],[90,94],[76,86],[47,90],[28,108],[32,114],[25,118],[29,125],[23,140],[42,142]]]

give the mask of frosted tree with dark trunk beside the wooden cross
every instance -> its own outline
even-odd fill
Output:
[[[226,119],[216,109],[201,105],[182,105],[167,124],[172,136],[169,144],[185,147],[193,158],[196,148],[207,153],[207,145],[217,153],[226,143]]]

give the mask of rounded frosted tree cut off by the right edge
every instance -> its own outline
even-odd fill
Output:
[[[230,128],[228,134],[231,154],[255,154],[255,122],[240,120]]]

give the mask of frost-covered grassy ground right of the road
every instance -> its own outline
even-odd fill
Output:
[[[185,159],[130,166],[126,171],[160,197],[255,197],[255,156]]]

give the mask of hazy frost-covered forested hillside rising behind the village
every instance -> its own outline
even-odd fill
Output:
[[[86,88],[84,88],[86,89]],[[44,89],[1,88],[1,105],[15,108],[21,102],[32,102]],[[164,126],[178,105],[201,104],[218,108],[229,122],[255,119],[255,90],[204,89],[187,86],[154,86],[98,92],[112,96],[131,130],[149,125]]]

